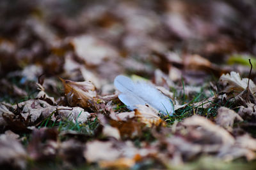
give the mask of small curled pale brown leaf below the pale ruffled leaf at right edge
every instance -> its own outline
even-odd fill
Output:
[[[234,120],[236,119],[240,122],[243,121],[243,118],[241,118],[234,110],[221,107],[218,109],[218,115],[215,120],[218,125],[221,125],[228,131],[232,131]]]

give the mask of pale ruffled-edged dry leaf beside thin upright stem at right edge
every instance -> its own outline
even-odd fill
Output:
[[[230,74],[223,74],[220,77],[220,84],[223,86],[223,92],[239,94],[246,89],[248,85],[248,78],[241,78],[239,73],[232,71]],[[249,89],[252,94],[256,92],[256,85],[252,80],[249,82]]]

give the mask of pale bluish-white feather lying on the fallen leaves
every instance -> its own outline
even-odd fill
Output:
[[[118,98],[129,110],[136,109],[138,104],[149,104],[163,115],[172,115],[174,112],[172,100],[146,81],[134,83],[127,76],[119,75],[116,76],[114,85],[121,92]]]

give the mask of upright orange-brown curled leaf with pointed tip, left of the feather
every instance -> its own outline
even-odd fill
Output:
[[[91,81],[76,82],[63,80],[62,78],[60,80],[63,83],[65,96],[70,106],[88,108],[95,100],[97,92]]]

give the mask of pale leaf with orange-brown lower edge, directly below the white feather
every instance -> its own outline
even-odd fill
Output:
[[[164,125],[164,121],[158,116],[158,112],[151,106],[136,105],[135,117],[143,124],[152,127],[153,125]]]

